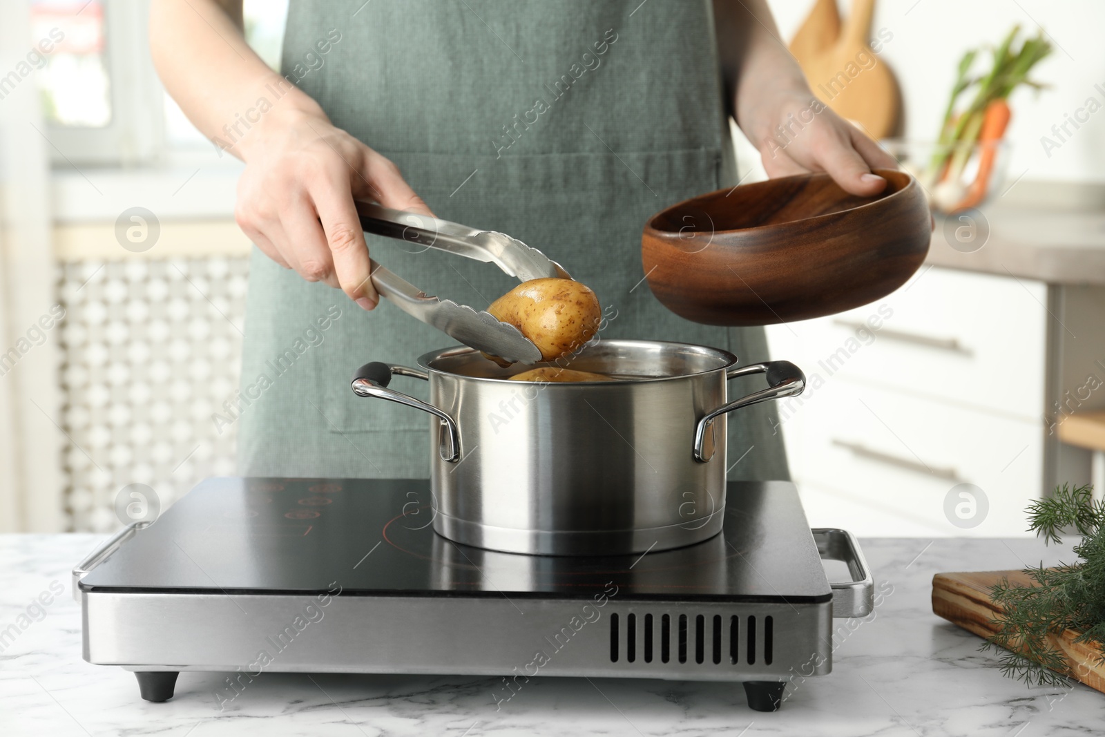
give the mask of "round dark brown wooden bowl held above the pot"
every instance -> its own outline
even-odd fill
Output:
[[[928,253],[925,194],[880,169],[886,189],[856,197],[828,175],[782,177],[680,202],[644,228],[649,286],[676,315],[706,325],[822,317],[884,297]]]

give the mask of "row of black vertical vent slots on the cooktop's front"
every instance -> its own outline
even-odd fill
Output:
[[[610,662],[770,665],[775,621],[756,614],[610,614]]]

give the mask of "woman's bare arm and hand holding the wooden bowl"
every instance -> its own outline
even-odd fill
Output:
[[[871,168],[897,162],[813,96],[767,0],[714,0],[714,18],[730,112],[768,176],[825,171],[853,194],[881,192]]]

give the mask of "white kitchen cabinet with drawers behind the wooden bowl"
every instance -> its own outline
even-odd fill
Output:
[[[770,326],[771,355],[807,372],[779,431],[811,522],[1027,534],[1032,499],[1090,481],[1056,427],[1105,407],[1102,315],[1101,286],[926,264],[874,304]]]

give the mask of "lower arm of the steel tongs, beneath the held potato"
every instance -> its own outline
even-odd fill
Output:
[[[390,299],[411,317],[432,325],[466,346],[512,362],[530,365],[541,359],[540,349],[513,325],[452,299],[428,296],[376,262],[372,262],[372,285],[380,296]]]

